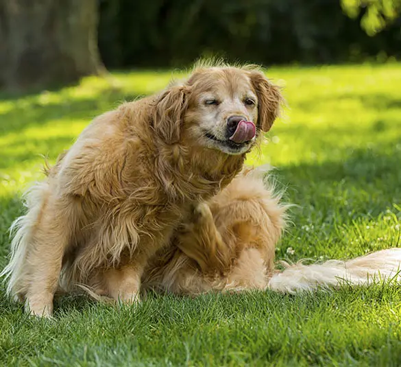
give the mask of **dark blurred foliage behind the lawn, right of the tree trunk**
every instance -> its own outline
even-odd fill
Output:
[[[401,56],[401,20],[369,36],[339,0],[101,0],[107,68],[184,67],[199,56],[260,64],[383,62]]]

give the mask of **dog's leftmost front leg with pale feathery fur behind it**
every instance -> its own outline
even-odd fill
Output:
[[[47,182],[28,194],[29,211],[16,220],[12,257],[2,275],[9,278],[8,294],[23,301],[37,316],[51,316],[71,223],[66,203],[51,196]]]

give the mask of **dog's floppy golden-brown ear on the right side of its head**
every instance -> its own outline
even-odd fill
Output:
[[[271,84],[261,71],[251,71],[250,77],[258,97],[258,126],[267,132],[278,117],[284,99],[280,88]]]

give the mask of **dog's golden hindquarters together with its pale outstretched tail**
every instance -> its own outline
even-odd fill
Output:
[[[186,217],[171,246],[149,261],[143,289],[182,295],[271,289],[311,292],[318,288],[400,281],[401,248],[349,261],[289,265],[274,263],[275,248],[287,219],[264,170],[245,169],[228,186]]]

